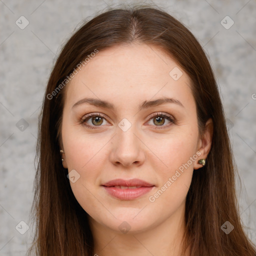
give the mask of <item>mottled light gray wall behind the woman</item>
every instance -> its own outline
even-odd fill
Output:
[[[28,220],[37,119],[54,59],[84,18],[123,2],[0,0],[0,255],[25,255],[33,236]],[[256,242],[256,1],[153,3],[183,22],[210,58],[242,181],[242,189],[237,190],[240,215],[246,232]],[[21,15],[29,21],[24,29],[15,24]],[[220,23],[226,15],[234,21],[229,29]],[[231,24],[230,20],[224,22]],[[23,131],[21,118],[28,124]],[[24,234],[15,229],[21,220],[29,225]]]

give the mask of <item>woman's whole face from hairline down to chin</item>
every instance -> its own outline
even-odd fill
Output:
[[[118,46],[99,51],[66,86],[63,166],[90,223],[125,233],[183,217],[205,156],[184,70],[156,47]],[[149,184],[103,186],[113,179]]]

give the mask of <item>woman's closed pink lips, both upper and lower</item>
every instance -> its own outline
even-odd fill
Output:
[[[148,193],[155,185],[141,179],[114,179],[101,186],[112,197],[131,200]]]

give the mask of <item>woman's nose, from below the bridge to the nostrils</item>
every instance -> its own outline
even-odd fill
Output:
[[[135,130],[135,125],[123,131],[117,127],[117,134],[111,142],[112,148],[109,154],[109,160],[114,165],[123,165],[128,167],[132,164],[141,165],[145,160],[145,152],[142,148],[143,143]]]

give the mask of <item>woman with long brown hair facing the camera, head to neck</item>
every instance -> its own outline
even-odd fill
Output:
[[[37,144],[36,255],[255,255],[217,84],[195,37],[151,7],[64,45]]]

